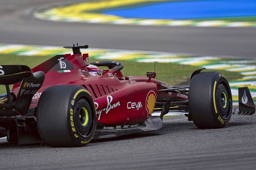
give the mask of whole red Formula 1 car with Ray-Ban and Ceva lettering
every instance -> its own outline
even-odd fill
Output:
[[[85,146],[92,138],[162,129],[169,111],[187,112],[199,128],[221,128],[230,120],[231,90],[219,72],[199,69],[190,86],[170,86],[154,79],[155,72],[124,77],[117,61],[89,63],[88,54],[80,52],[87,45],[64,48],[74,54],[56,55],[33,69],[0,66],[0,84],[7,91],[0,96],[0,127],[9,142]],[[239,89],[239,101],[238,114],[254,114],[248,87]],[[151,115],[156,109],[160,116]]]

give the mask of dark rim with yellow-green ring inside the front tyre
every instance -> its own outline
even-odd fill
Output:
[[[225,81],[220,81],[217,86],[217,107],[218,111],[223,119],[228,119],[231,114],[231,91],[228,84]]]

